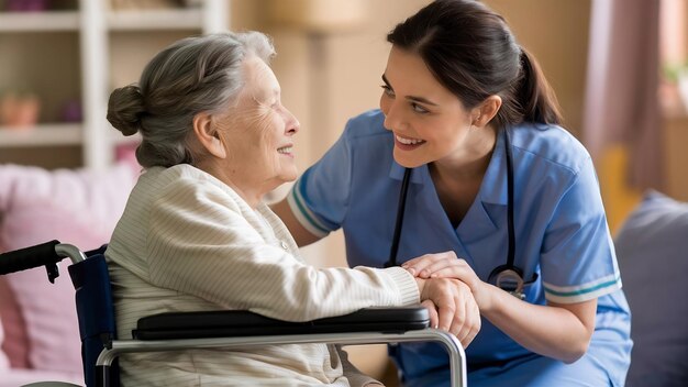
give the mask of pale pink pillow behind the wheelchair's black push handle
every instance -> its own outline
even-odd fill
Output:
[[[16,250],[56,239],[86,251],[107,243],[136,176],[130,165],[102,173],[0,166],[0,245]],[[24,320],[30,366],[81,374],[68,265],[68,259],[59,264],[55,284],[43,268],[5,278]]]

